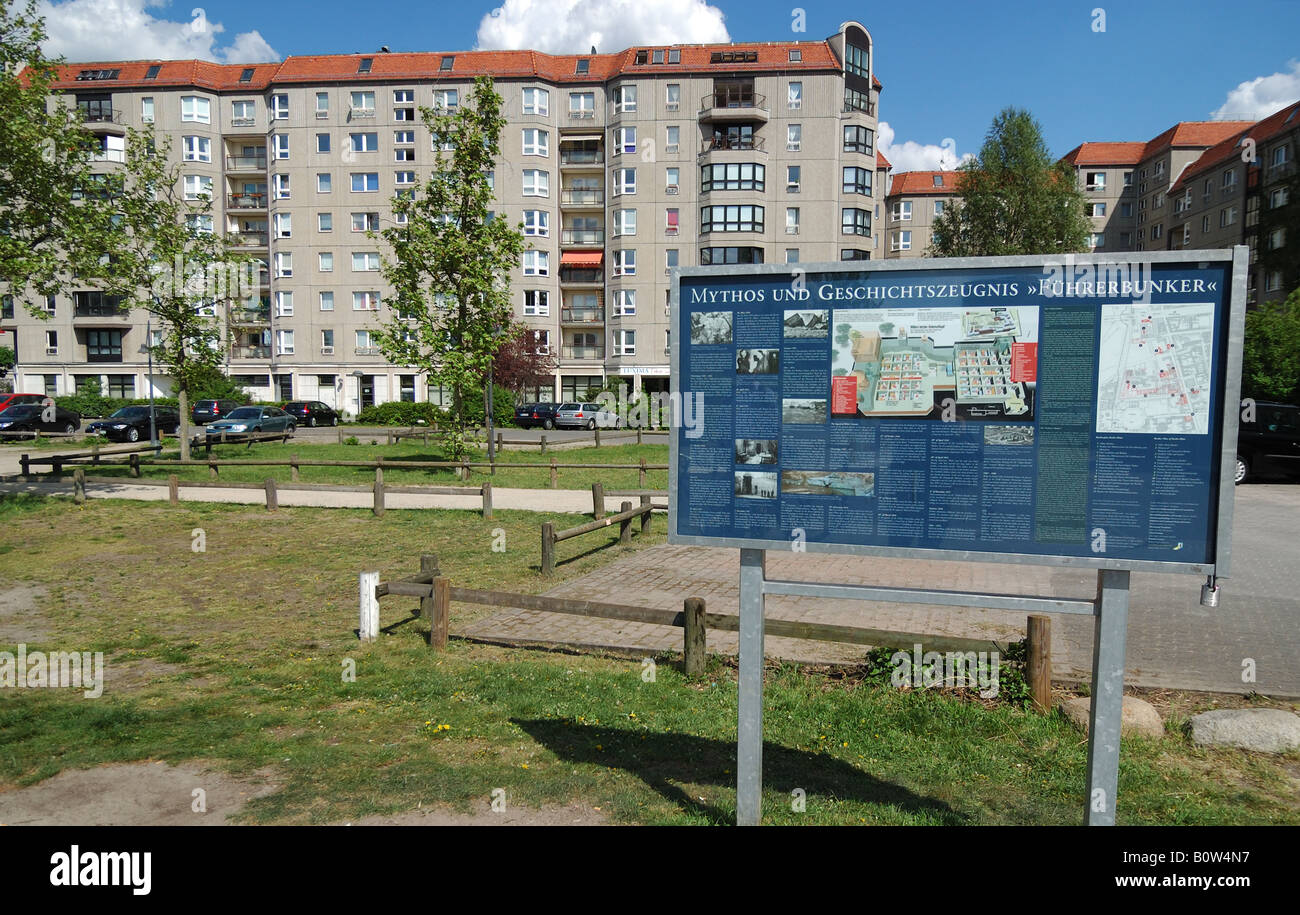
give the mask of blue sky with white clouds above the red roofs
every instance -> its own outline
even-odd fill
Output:
[[[191,16],[198,4],[203,14]],[[945,139],[959,155],[978,149],[1006,105],[1028,108],[1062,155],[1082,140],[1145,140],[1176,121],[1254,120],[1300,97],[1297,0],[47,0],[44,6],[51,49],[70,60],[276,58],[385,44],[573,52],[595,43],[615,51],[675,40],[826,38],[854,18],[876,43],[885,87],[881,146],[896,165],[910,168],[935,168]],[[796,8],[805,13],[802,32]]]

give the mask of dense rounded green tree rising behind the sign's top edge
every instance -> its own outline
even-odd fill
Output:
[[[1069,162],[1053,161],[1039,122],[1006,108],[979,156],[959,169],[959,201],[931,230],[930,256],[1053,255],[1088,251],[1084,198]]]

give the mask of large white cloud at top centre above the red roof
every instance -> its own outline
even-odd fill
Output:
[[[478,47],[581,55],[729,42],[723,19],[705,0],[506,0],[478,23]]]

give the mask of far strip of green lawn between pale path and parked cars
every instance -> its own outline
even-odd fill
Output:
[[[644,458],[646,464],[667,464],[668,446],[664,445],[603,445],[599,448],[573,448],[568,451],[547,451],[545,455],[537,448],[508,450],[499,460],[514,464],[529,464],[534,467],[514,468],[498,467],[495,474],[489,474],[488,468],[474,468],[468,483],[456,477],[452,469],[402,469],[402,461],[438,461],[450,458],[436,445],[425,447],[422,443],[411,441],[400,445],[370,445],[365,438],[359,445],[317,445],[292,442],[259,442],[251,448],[246,445],[225,445],[212,448],[212,456],[217,460],[287,460],[298,455],[302,460],[376,460],[384,458],[385,464],[391,461],[391,467],[384,468],[384,481],[387,483],[455,486],[476,485],[490,480],[493,486],[514,486],[521,489],[543,489],[551,485],[550,463],[554,458],[558,464],[638,464]],[[177,458],[178,452],[165,452],[166,458]],[[202,448],[194,450],[195,460],[204,459]],[[486,461],[488,452],[482,448],[471,450],[467,456],[471,461]],[[176,473],[185,480],[209,480],[207,467],[166,467],[152,464],[151,458],[140,458],[142,476],[164,480],[169,473]],[[534,469],[536,468],[536,469]],[[46,468],[48,469],[48,467]],[[66,473],[65,468],[65,473]],[[86,473],[96,477],[126,477],[125,464],[101,464],[91,468],[87,465]],[[274,477],[277,482],[289,482],[291,472],[289,467],[222,467],[220,480],[231,482],[263,482],[268,477]],[[374,481],[374,470],[363,467],[303,467],[299,480],[306,483],[344,483],[365,486]],[[560,489],[589,489],[593,482],[602,482],[607,490],[638,489],[640,473],[636,469],[564,469],[556,472],[556,482]],[[656,490],[668,489],[667,470],[649,470],[646,473],[646,487]]]

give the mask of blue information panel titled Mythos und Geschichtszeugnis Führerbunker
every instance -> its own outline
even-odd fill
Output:
[[[1228,257],[682,270],[672,539],[1213,564]]]

